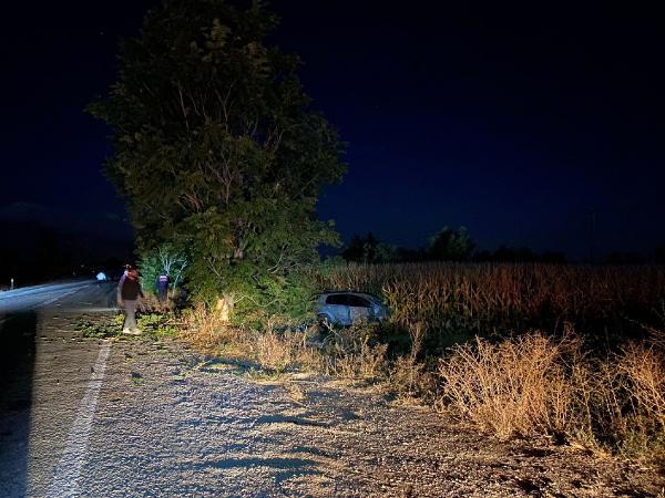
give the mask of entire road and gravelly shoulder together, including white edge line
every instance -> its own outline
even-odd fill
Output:
[[[176,340],[84,340],[114,283],[0,294],[0,497],[657,496],[570,447],[500,443],[316,377],[250,382]]]

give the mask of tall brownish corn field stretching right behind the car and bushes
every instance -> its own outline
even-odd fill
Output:
[[[613,344],[664,320],[665,267],[657,266],[339,264],[314,278],[321,289],[381,295],[395,324],[420,323],[440,345],[460,334],[561,332],[566,323]]]

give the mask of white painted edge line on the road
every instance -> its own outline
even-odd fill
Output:
[[[104,381],[104,371],[106,370],[106,360],[109,359],[111,343],[104,342],[88,382],[85,395],[79,405],[76,418],[69,434],[66,446],[60,457],[60,463],[53,470],[53,481],[47,492],[48,498],[79,496],[79,478],[81,477],[81,468],[85,461],[92,421],[96,411],[100,388]]]

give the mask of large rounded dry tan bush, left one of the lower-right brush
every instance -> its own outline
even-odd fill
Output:
[[[573,419],[573,386],[562,357],[577,343],[532,333],[499,344],[477,338],[442,359],[446,400],[483,429],[513,435],[561,434]]]

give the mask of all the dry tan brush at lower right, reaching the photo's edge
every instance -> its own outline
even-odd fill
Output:
[[[662,466],[665,351],[630,343],[601,362],[582,346],[541,333],[477,338],[440,360],[442,401],[501,438],[554,435]]]

